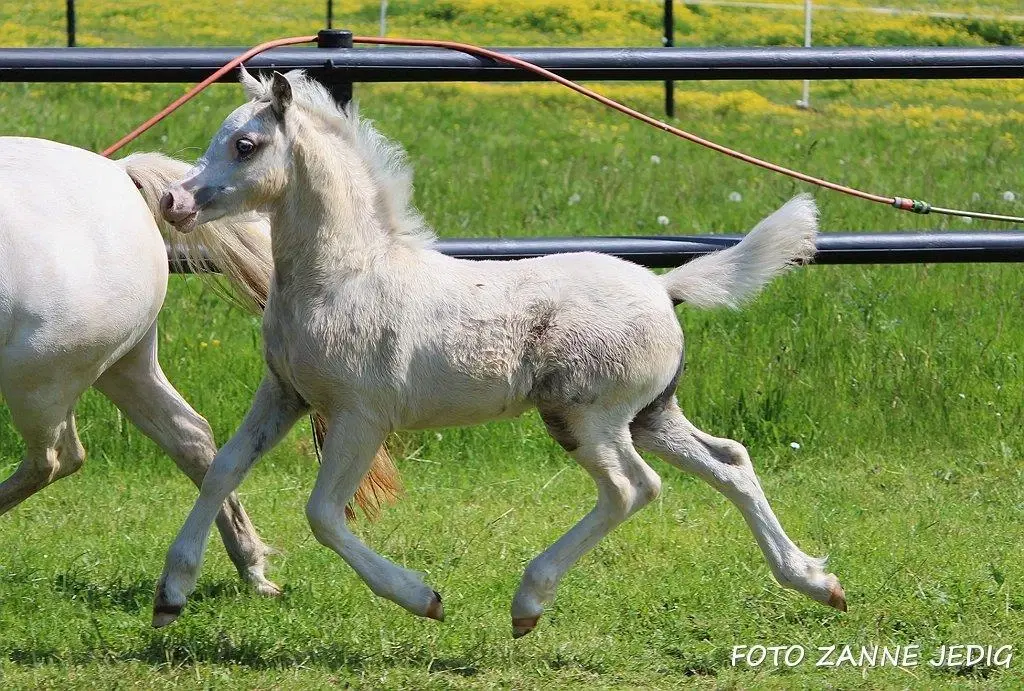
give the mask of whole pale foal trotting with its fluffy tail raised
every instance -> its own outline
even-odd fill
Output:
[[[420,575],[367,547],[343,507],[392,430],[467,425],[537,407],[597,483],[597,505],[527,567],[513,634],[537,624],[565,571],[653,500],[649,449],[728,496],[783,586],[845,609],[824,561],[801,552],[772,513],[745,449],[693,427],[676,404],[683,338],[674,302],[736,306],[814,253],[816,211],[800,197],[737,246],[658,276],[595,254],[510,262],[452,259],[410,205],[401,150],[340,112],[297,73],[248,75],[253,99],[163,201],[188,230],[223,214],[269,213],[274,277],[263,322],[267,372],[224,445],[158,586],[154,624],[194,590],[217,508],[312,405],[329,420],[307,505],[313,534],[374,593],[441,619]]]

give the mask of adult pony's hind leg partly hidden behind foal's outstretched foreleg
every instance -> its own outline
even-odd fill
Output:
[[[157,357],[157,343],[154,325],[132,350],[103,373],[95,386],[199,487],[217,455],[217,446],[206,419],[167,381]],[[242,577],[260,595],[281,595],[281,589],[264,575],[266,555],[271,550],[259,538],[233,493],[217,514],[217,528]]]

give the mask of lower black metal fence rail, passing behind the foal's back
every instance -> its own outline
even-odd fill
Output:
[[[600,252],[650,268],[668,268],[731,247],[741,239],[742,235],[442,239],[437,242],[437,249],[453,257],[478,260]],[[816,264],[1024,262],[1024,231],[828,232],[818,236]],[[189,272],[180,259],[170,256],[169,261],[172,271]]]

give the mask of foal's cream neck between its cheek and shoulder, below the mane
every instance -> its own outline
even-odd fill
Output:
[[[289,181],[272,211],[279,287],[336,282],[383,259],[392,244],[364,161],[308,120],[299,126]]]

